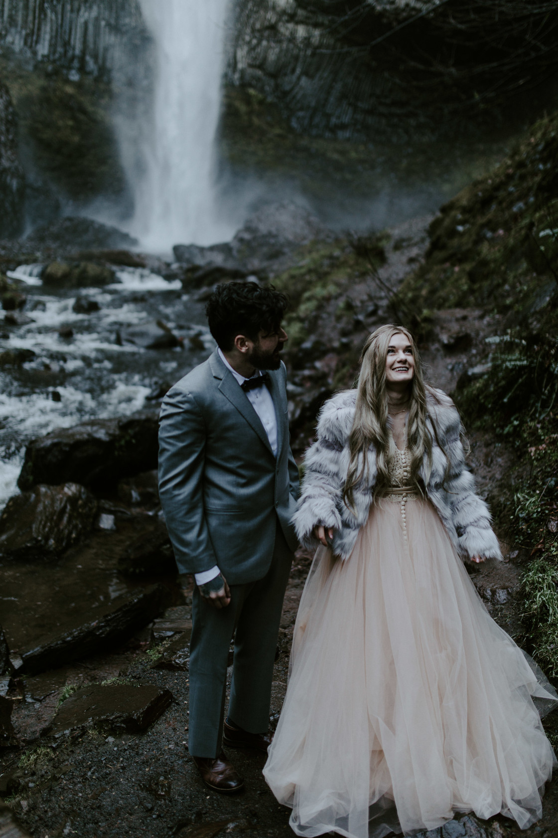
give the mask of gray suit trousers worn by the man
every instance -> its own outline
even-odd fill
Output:
[[[188,734],[188,749],[193,756],[215,758],[221,751],[228,649],[233,634],[228,716],[250,733],[268,730],[275,649],[292,561],[293,553],[278,521],[274,555],[263,579],[231,585],[231,602],[221,609],[208,605],[195,588]]]

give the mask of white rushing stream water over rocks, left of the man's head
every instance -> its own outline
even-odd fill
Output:
[[[26,275],[24,266],[18,274]],[[23,323],[10,324],[9,318],[0,323],[0,354],[34,353],[22,365],[0,365],[0,510],[17,492],[29,439],[86,419],[156,407],[159,401],[148,398],[151,391],[177,381],[212,350],[203,305],[182,291],[179,280],[141,268],[120,268],[116,280],[79,292],[54,291],[35,280],[26,287]],[[75,313],[78,294],[98,310]],[[179,345],[141,345],[142,334],[157,331],[157,321],[171,329]],[[61,328],[73,334],[63,337]]]

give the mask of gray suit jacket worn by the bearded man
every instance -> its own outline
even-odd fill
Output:
[[[262,579],[277,519],[290,523],[299,470],[289,446],[285,368],[270,371],[277,458],[259,416],[217,351],[178,381],[161,406],[159,491],[181,573],[218,565],[231,584]]]

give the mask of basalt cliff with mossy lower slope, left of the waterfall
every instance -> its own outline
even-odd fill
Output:
[[[115,112],[136,113],[151,69],[136,0],[0,0],[0,79],[18,122],[11,151],[0,143],[26,186],[15,189],[16,221],[0,235],[95,199],[125,211]]]

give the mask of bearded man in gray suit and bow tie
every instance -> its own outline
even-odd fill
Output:
[[[166,394],[159,484],[181,573],[196,579],[188,748],[205,784],[243,788],[223,753],[227,659],[233,681],[224,743],[267,752],[284,590],[297,546],[299,473],[289,447],[281,320],[284,294],[219,285],[207,303],[218,349]]]

